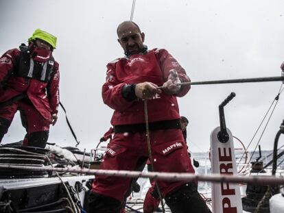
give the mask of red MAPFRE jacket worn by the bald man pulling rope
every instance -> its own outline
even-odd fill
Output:
[[[102,86],[103,101],[115,110],[112,125],[145,123],[143,101],[127,101],[121,95],[126,84],[152,82],[163,86],[169,71],[175,69],[181,82],[190,82],[185,70],[165,49],[152,49],[145,54],[130,55],[107,64],[106,83]],[[147,101],[149,122],[167,121],[180,118],[176,96],[187,94],[190,86],[182,86],[178,95],[157,94]]]

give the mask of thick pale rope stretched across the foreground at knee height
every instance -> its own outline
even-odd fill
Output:
[[[194,175],[192,173],[158,173],[158,172],[139,172],[139,171],[117,171],[117,170],[103,170],[103,169],[88,169],[88,168],[47,168],[47,167],[33,167],[33,166],[12,166],[1,165],[0,168],[16,168],[29,171],[57,171],[70,173],[83,173],[89,175],[105,175],[115,177],[142,177],[161,179],[165,181],[209,181],[209,182],[229,182],[229,183],[248,183],[248,184],[268,184],[280,185],[284,184],[283,177],[275,176],[239,176],[239,175]]]

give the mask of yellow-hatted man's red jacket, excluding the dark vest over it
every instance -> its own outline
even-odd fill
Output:
[[[54,64],[54,74],[49,82],[43,82],[30,77],[19,77],[15,74],[19,49],[11,49],[0,58],[0,103],[13,97],[26,94],[40,114],[51,119],[51,114],[58,113],[59,105],[59,70]]]

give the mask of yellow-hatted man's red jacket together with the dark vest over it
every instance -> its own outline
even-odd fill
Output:
[[[47,61],[45,72],[37,74],[32,68],[29,52],[10,49],[0,58],[0,104],[18,95],[27,95],[45,119],[57,114],[59,104],[59,70],[53,58]],[[43,66],[43,67],[44,67]]]

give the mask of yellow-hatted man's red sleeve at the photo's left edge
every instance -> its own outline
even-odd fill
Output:
[[[11,49],[5,52],[0,58],[0,88],[5,85],[8,78],[12,75],[16,56],[19,55],[18,49]]]

